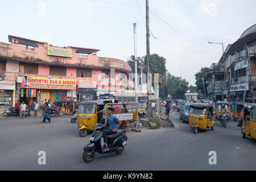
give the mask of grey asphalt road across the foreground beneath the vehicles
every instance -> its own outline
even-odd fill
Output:
[[[82,160],[82,148],[90,135],[81,138],[71,115],[53,117],[0,118],[0,170],[255,170],[256,140],[242,138],[238,121],[224,129],[216,121],[214,130],[193,134],[179,113],[171,114],[174,128],[128,131],[121,155],[97,154],[92,163]],[[39,151],[46,152],[46,165],[39,165]],[[217,164],[209,164],[216,151]]]

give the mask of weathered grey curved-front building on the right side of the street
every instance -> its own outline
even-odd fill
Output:
[[[222,88],[224,98],[229,101],[255,102],[256,100],[255,48],[256,24],[245,30],[236,42],[226,48],[216,68],[208,73],[209,82],[213,80],[212,75],[222,75],[219,75],[218,79],[224,81]],[[209,87],[209,90],[212,88]],[[216,100],[220,100],[220,97]]]

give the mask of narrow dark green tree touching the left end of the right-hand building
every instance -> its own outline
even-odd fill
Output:
[[[195,74],[195,77],[196,77],[196,86],[197,86],[197,92],[203,94],[204,96],[204,86],[205,86],[205,92],[206,94],[208,95],[207,93],[207,71],[209,70],[210,68],[207,68],[207,67],[204,67],[204,68],[201,68],[200,72],[197,72]],[[203,78],[204,78],[204,84],[203,84]]]

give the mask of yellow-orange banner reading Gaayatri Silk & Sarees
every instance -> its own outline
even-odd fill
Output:
[[[45,78],[28,76],[26,85],[20,86],[25,89],[57,89],[57,90],[75,90],[76,80],[64,78]]]

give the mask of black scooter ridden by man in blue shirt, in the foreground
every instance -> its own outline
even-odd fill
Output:
[[[84,153],[82,154],[82,159],[84,162],[89,163],[92,162],[96,153],[99,154],[109,154],[115,152],[115,154],[119,155],[122,154],[123,150],[125,149],[125,145],[127,144],[127,136],[126,131],[117,130],[116,134],[108,135],[108,151],[102,151],[101,149],[101,137],[103,135],[102,129],[106,128],[101,123],[97,123],[94,126],[94,131],[92,137],[90,137],[90,143],[86,144],[84,147]]]

